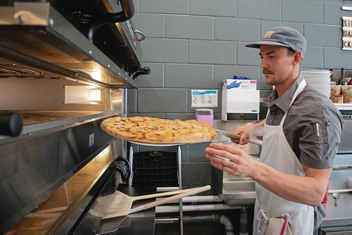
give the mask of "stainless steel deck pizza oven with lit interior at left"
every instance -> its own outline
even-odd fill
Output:
[[[125,115],[140,64],[132,0],[1,1],[0,233],[96,234],[129,177]]]

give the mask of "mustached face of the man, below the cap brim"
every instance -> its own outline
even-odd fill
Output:
[[[268,85],[282,84],[294,72],[294,54],[290,55],[284,46],[260,46],[260,67]]]

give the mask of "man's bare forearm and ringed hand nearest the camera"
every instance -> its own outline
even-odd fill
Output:
[[[284,174],[260,163],[235,146],[212,143],[205,151],[206,158],[210,160],[213,167],[237,177],[251,177],[277,196],[313,207],[322,201],[332,171],[332,169],[313,169],[303,165],[305,172],[303,176]]]

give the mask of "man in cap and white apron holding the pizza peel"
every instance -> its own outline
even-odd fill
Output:
[[[299,73],[306,39],[290,27],[275,27],[259,48],[265,82],[274,85],[266,120],[237,129],[237,144],[263,135],[259,162],[241,148],[212,143],[210,164],[256,181],[253,234],[313,234],[325,215],[320,205],[340,144],[343,120],[334,104]],[[230,161],[216,158],[216,155]]]

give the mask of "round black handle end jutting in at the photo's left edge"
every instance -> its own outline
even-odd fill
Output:
[[[0,113],[0,135],[18,136],[22,127],[22,116],[19,113]]]

